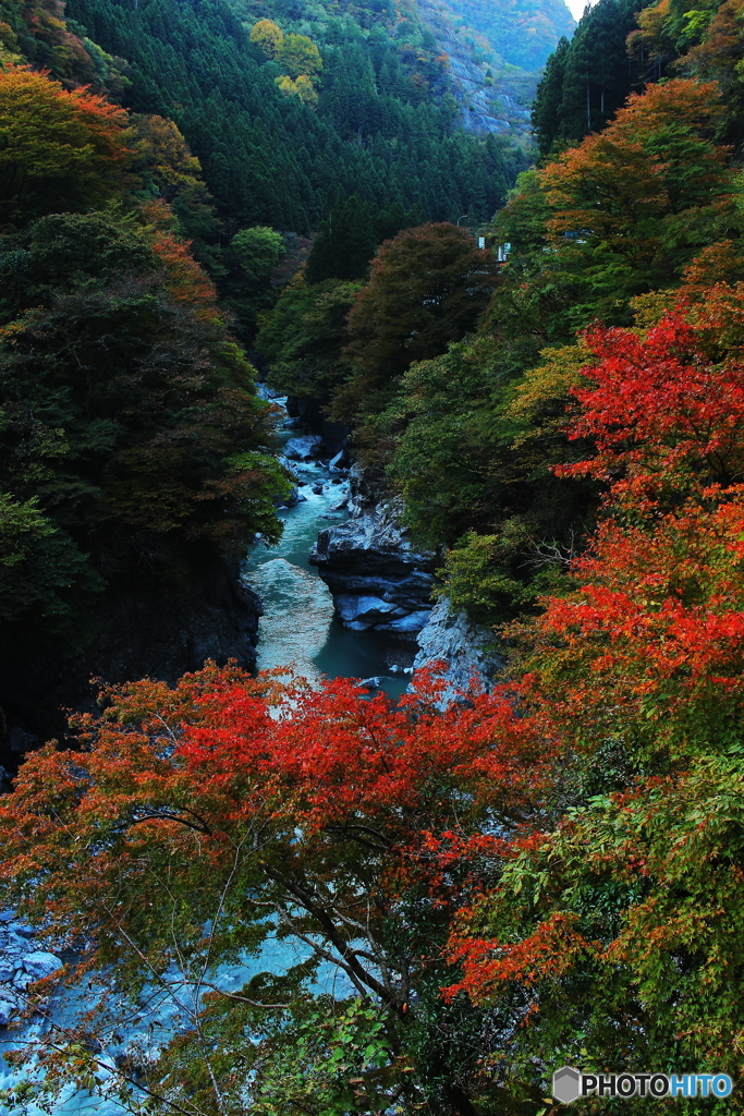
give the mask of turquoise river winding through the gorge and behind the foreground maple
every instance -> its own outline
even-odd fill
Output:
[[[298,479],[300,501],[293,508],[279,511],[283,523],[281,540],[274,546],[258,540],[243,568],[243,578],[263,602],[258,668],[291,666],[297,675],[315,682],[320,682],[322,676],[375,677],[380,689],[390,696],[398,696],[409,682],[415,645],[381,633],[345,628],[334,612],[330,591],[308,561],[318,531],[347,518],[348,482],[330,477],[319,462],[293,463],[292,470]],[[226,990],[236,990],[257,972],[283,970],[300,960],[301,952],[291,943],[270,941],[258,958],[247,956],[243,964],[222,966],[218,981]],[[335,981],[337,977],[329,972],[327,979]],[[176,999],[187,1001],[187,989],[178,991],[177,979],[176,993]],[[50,1018],[59,1027],[74,1026],[85,1007],[85,994],[79,991],[58,992],[52,999]],[[155,995],[145,1010],[131,1013],[126,1027],[117,1024],[117,1040],[104,1041],[102,1060],[131,1048],[133,1042],[135,1046],[138,1042],[157,1046],[185,1023],[173,997]],[[48,1023],[35,1023],[26,1036],[33,1037],[48,1027]],[[118,1041],[119,1036],[122,1041]],[[3,1046],[8,1049],[22,1041],[22,1032],[2,1035],[0,1031],[0,1090],[15,1086],[19,1077],[26,1077],[26,1072],[12,1069],[1,1057]],[[100,1075],[102,1079],[106,1076],[105,1071]],[[51,1109],[33,1103],[21,1109],[15,1104],[0,1103],[0,1116],[20,1116],[21,1112],[23,1116],[45,1116],[49,1112],[59,1116],[124,1116],[131,1112],[114,1099],[71,1087],[52,1104]]]

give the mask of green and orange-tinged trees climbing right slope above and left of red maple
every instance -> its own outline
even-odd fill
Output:
[[[522,174],[494,219],[494,240],[511,251],[477,340],[413,364],[386,396],[357,369],[341,389],[344,398],[364,384],[357,439],[369,460],[387,465],[416,536],[455,547],[444,584],[480,622],[559,591],[593,519],[595,483],[550,470],[581,452],[564,434],[586,360],[577,328],[597,317],[630,321],[631,305],[640,312],[634,299],[659,287],[668,305],[694,252],[740,228],[736,180],[714,142],[721,113],[714,87],[651,87],[603,133]],[[738,276],[733,248],[706,252],[698,282]],[[403,305],[398,292],[386,306],[386,330]],[[397,354],[364,336],[369,348],[355,356],[358,366],[380,360],[389,374]],[[415,326],[406,337],[409,348]]]

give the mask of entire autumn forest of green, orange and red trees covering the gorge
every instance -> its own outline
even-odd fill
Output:
[[[279,537],[247,350],[502,663],[76,692],[0,887],[90,1012],[0,1105],[551,1116],[568,1066],[580,1113],[744,1110],[741,0],[555,13],[534,152],[457,127],[414,6],[0,11],[3,737],[35,663]],[[114,1057],[161,993],[181,1026]]]

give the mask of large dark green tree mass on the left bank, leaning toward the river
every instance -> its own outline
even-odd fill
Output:
[[[255,530],[276,537],[286,481],[260,452],[265,406],[183,246],[134,218],[59,214],[0,259],[15,318],[0,330],[0,473],[49,526],[8,569],[15,612],[56,616],[45,595],[77,583],[71,622],[113,575],[173,576]]]

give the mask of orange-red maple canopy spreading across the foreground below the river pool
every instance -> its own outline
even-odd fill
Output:
[[[439,691],[424,676],[396,706],[345,679],[312,690],[231,667],[176,690],[110,690],[103,720],[80,721],[80,751],[50,747],[21,768],[0,806],[2,876],[21,889],[26,881],[27,910],[49,905],[57,931],[74,937],[100,926],[107,894],[117,927],[143,917],[118,896],[149,886],[158,848],[181,864],[178,887],[196,902],[260,833],[262,858],[247,846],[251,886],[301,879],[307,894],[325,879],[341,888],[347,915],[367,908],[370,889],[380,910],[412,887],[432,910],[450,906],[452,872],[505,848],[481,834],[482,819],[519,826],[551,781],[553,753],[506,695],[473,694],[443,715]]]

